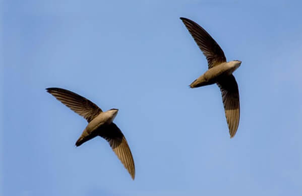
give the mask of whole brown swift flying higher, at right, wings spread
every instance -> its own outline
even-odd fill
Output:
[[[226,62],[226,58],[216,41],[194,21],[180,18],[195,42],[206,56],[208,71],[196,79],[191,88],[217,84],[222,95],[225,117],[229,128],[230,138],[234,137],[239,125],[239,92],[238,85],[232,73],[240,66],[240,60]]]

